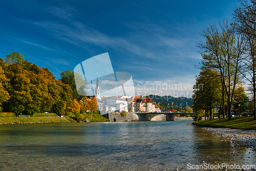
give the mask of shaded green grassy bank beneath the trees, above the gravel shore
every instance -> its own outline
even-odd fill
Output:
[[[203,120],[193,122],[193,124],[201,127],[229,127],[231,129],[256,130],[256,120],[253,120],[253,117],[250,116],[232,117],[231,120],[228,120],[228,118]]]

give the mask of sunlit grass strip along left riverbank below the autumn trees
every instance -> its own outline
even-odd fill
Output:
[[[41,117],[0,117],[0,124],[23,124],[23,123],[62,123],[69,122],[58,116]]]

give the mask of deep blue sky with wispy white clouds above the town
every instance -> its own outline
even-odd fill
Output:
[[[138,95],[191,97],[201,59],[195,41],[209,24],[231,20],[238,4],[0,0],[0,57],[22,53],[59,79],[60,72],[108,52],[114,71],[132,74]]]

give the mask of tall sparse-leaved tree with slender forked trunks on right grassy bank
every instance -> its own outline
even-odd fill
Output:
[[[246,51],[245,36],[236,34],[234,27],[227,22],[220,25],[209,26],[202,35],[206,42],[198,42],[201,49],[203,63],[207,68],[214,68],[220,74],[222,83],[222,99],[224,107],[224,93],[227,96],[228,118],[231,119],[231,103],[234,89],[242,79],[241,63]],[[223,110],[224,112],[224,110]]]

